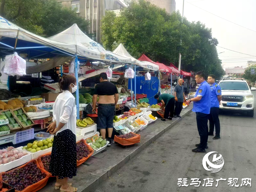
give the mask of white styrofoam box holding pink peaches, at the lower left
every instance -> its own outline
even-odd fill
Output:
[[[18,147],[17,149],[21,150],[22,147]],[[28,155],[25,155],[20,159],[17,159],[10,163],[0,165],[0,172],[5,172],[5,171],[11,170],[15,167],[19,167],[21,165],[24,165],[25,163],[28,163],[31,160],[32,160],[32,153],[28,153]]]

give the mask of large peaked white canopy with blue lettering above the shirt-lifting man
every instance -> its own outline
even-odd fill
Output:
[[[48,39],[66,43],[72,47],[71,51],[87,58],[112,63],[131,63],[131,59],[128,57],[106,51],[100,43],[93,41],[84,34],[77,24],[72,25],[68,29],[49,37]]]

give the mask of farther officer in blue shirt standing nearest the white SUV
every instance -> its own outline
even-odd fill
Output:
[[[221,101],[221,88],[215,83],[215,75],[208,75],[208,83],[211,88],[211,109],[210,115],[208,116],[210,122],[210,129],[208,135],[213,135],[215,125],[215,137],[212,139],[220,139],[220,120],[219,120],[219,108]]]

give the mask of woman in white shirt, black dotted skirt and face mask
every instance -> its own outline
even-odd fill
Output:
[[[76,192],[68,183],[68,178],[76,176],[76,102],[72,95],[77,89],[76,78],[64,75],[59,85],[63,92],[54,102],[53,123],[47,127],[54,134],[50,173],[57,178],[55,189]]]

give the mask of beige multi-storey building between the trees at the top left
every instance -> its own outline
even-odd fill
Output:
[[[124,8],[120,0],[57,0],[63,6],[76,8],[77,14],[90,22],[88,33],[92,39],[101,43],[102,17],[106,10],[113,10],[116,14]]]

